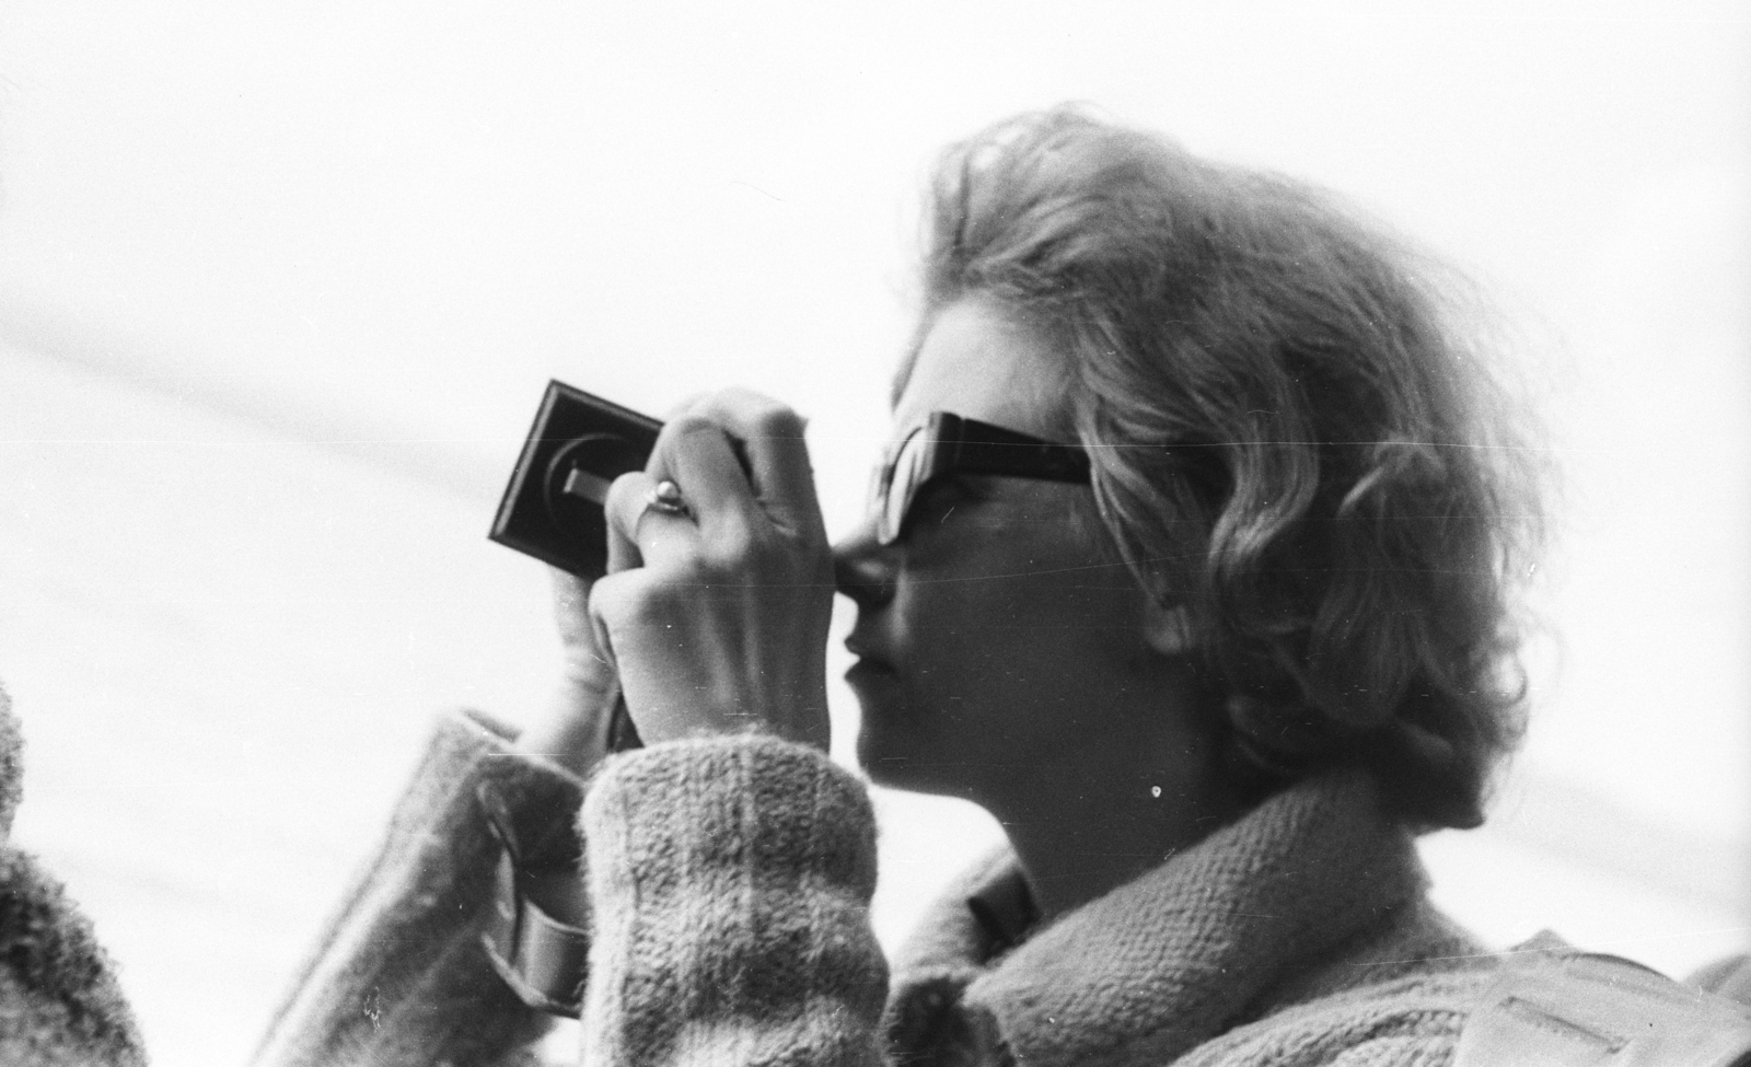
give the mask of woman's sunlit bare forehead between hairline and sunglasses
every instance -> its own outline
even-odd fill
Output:
[[[1063,357],[989,300],[942,308],[919,340],[893,406],[898,428],[954,412],[1044,438],[1065,436]]]

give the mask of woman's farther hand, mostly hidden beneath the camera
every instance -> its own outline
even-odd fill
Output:
[[[615,664],[595,641],[590,583],[553,569],[553,620],[559,624],[562,675],[546,713],[517,738],[517,748],[588,776],[608,755],[620,685]]]

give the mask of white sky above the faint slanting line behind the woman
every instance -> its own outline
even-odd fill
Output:
[[[926,163],[1089,100],[1495,293],[1565,475],[1520,766],[1746,837],[1751,5],[837,11],[11,0],[0,340],[413,473],[482,529],[546,378],[651,412],[746,384],[812,419],[844,529]]]

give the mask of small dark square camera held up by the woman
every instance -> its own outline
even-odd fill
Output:
[[[548,382],[489,536],[580,578],[601,578],[608,487],[644,470],[660,429],[657,419]]]

